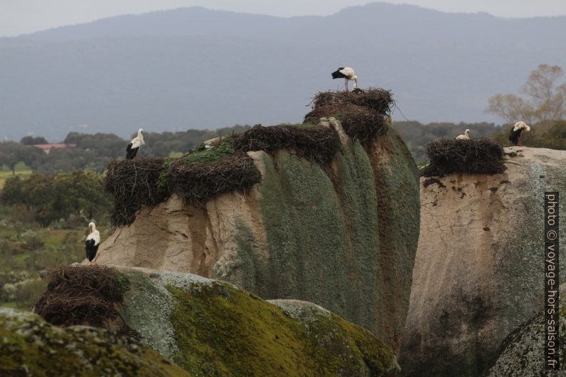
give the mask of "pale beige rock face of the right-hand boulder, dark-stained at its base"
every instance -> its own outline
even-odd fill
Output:
[[[544,192],[566,192],[566,151],[505,153],[503,174],[421,178],[403,376],[481,376],[505,337],[543,310]]]

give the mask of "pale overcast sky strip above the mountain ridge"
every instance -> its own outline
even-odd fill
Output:
[[[328,15],[367,0],[0,0],[0,36],[81,24],[118,14],[140,14],[182,6],[205,6],[274,16]],[[566,0],[389,0],[448,12],[485,11],[495,16],[566,14]]]

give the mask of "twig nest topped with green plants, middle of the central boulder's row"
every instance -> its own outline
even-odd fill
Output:
[[[254,160],[246,153],[227,155],[212,162],[187,164],[182,159],[174,160],[165,174],[169,192],[192,203],[205,202],[222,192],[249,190],[262,178]]]

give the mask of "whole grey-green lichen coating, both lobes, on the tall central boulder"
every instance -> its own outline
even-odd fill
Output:
[[[374,172],[359,142],[336,155],[335,177],[280,151],[264,157],[259,202],[269,267],[250,289],[315,302],[379,334],[381,267]]]

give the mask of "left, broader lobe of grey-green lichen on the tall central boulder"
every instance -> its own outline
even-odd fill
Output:
[[[264,157],[264,166],[259,205],[270,250],[267,298],[304,299],[342,314],[348,234],[333,183],[319,165],[286,150]]]

